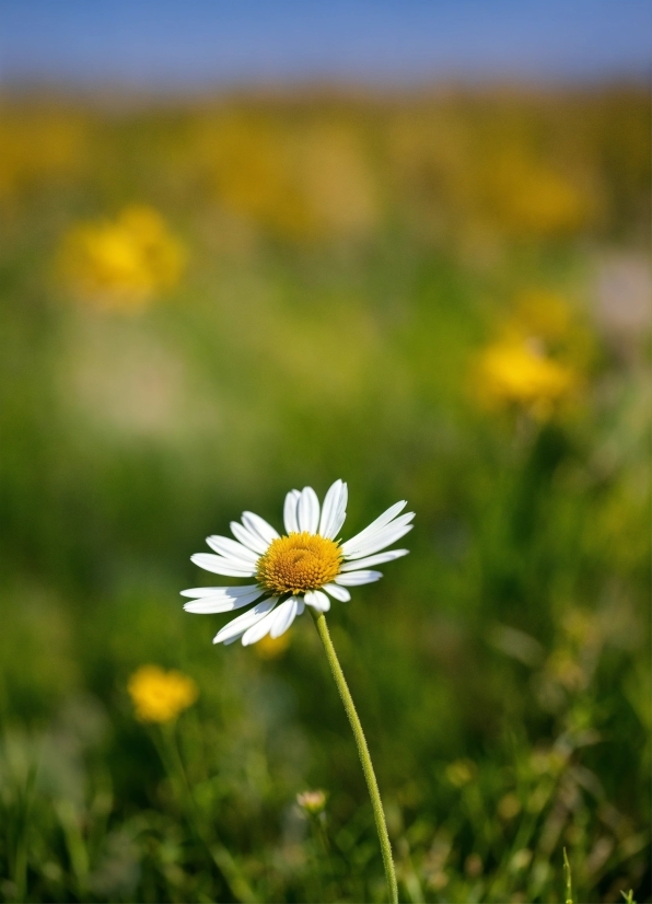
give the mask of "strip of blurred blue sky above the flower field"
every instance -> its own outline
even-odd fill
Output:
[[[0,82],[603,80],[651,37],[652,0],[0,0]]]

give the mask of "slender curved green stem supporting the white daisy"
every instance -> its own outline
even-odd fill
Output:
[[[326,624],[326,616],[323,612],[315,612],[312,607],[311,614],[315,619],[317,631],[322,639],[322,644],[324,645],[324,649],[326,650],[326,658],[328,659],[333,677],[337,684],[337,689],[339,691],[339,695],[345,705],[351,729],[353,730],[356,744],[358,745],[358,754],[360,756],[362,772],[364,773],[364,779],[369,789],[371,806],[373,807],[373,816],[376,824],[376,832],[379,833],[379,841],[381,843],[389,901],[392,904],[398,904],[398,885],[396,884],[396,873],[394,871],[394,861],[392,859],[392,845],[389,844],[387,823],[385,822],[385,813],[383,811],[383,801],[381,800],[379,783],[376,781],[371,756],[369,755],[366,739],[364,738],[364,732],[362,731],[362,726],[360,725],[360,719],[358,718],[358,712],[356,711],[356,706],[353,704],[353,698],[351,697],[351,692],[349,691],[349,685],[347,684],[345,673],[341,670],[337,653],[335,652],[335,647],[333,646],[333,640],[330,639],[328,625]]]

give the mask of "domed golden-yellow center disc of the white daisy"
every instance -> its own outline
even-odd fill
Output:
[[[303,531],[273,540],[258,559],[256,577],[272,593],[303,593],[331,581],[340,561],[337,543]]]

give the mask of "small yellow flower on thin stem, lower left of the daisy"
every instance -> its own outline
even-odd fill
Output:
[[[127,685],[143,722],[170,722],[191,706],[198,696],[197,685],[188,675],[174,670],[166,672],[159,665],[141,665]]]

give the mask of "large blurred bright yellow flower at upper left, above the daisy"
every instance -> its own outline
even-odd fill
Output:
[[[63,242],[61,269],[84,300],[130,310],[174,287],[185,258],[162,217],[132,205],[114,221],[74,227]]]

